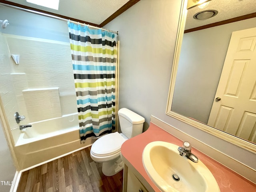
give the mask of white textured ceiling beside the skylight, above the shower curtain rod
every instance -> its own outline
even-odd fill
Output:
[[[24,6],[68,16],[94,24],[101,24],[129,0],[60,0],[59,10],[28,3],[26,0],[8,0]]]

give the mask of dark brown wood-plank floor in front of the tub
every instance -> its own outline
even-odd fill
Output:
[[[17,192],[122,192],[123,171],[107,177],[90,147],[22,173]]]

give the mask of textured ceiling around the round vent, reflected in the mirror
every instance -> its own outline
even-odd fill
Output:
[[[217,10],[218,14],[206,20],[196,20],[194,14],[203,10]],[[185,30],[256,12],[256,0],[211,0],[206,8],[188,10]]]

